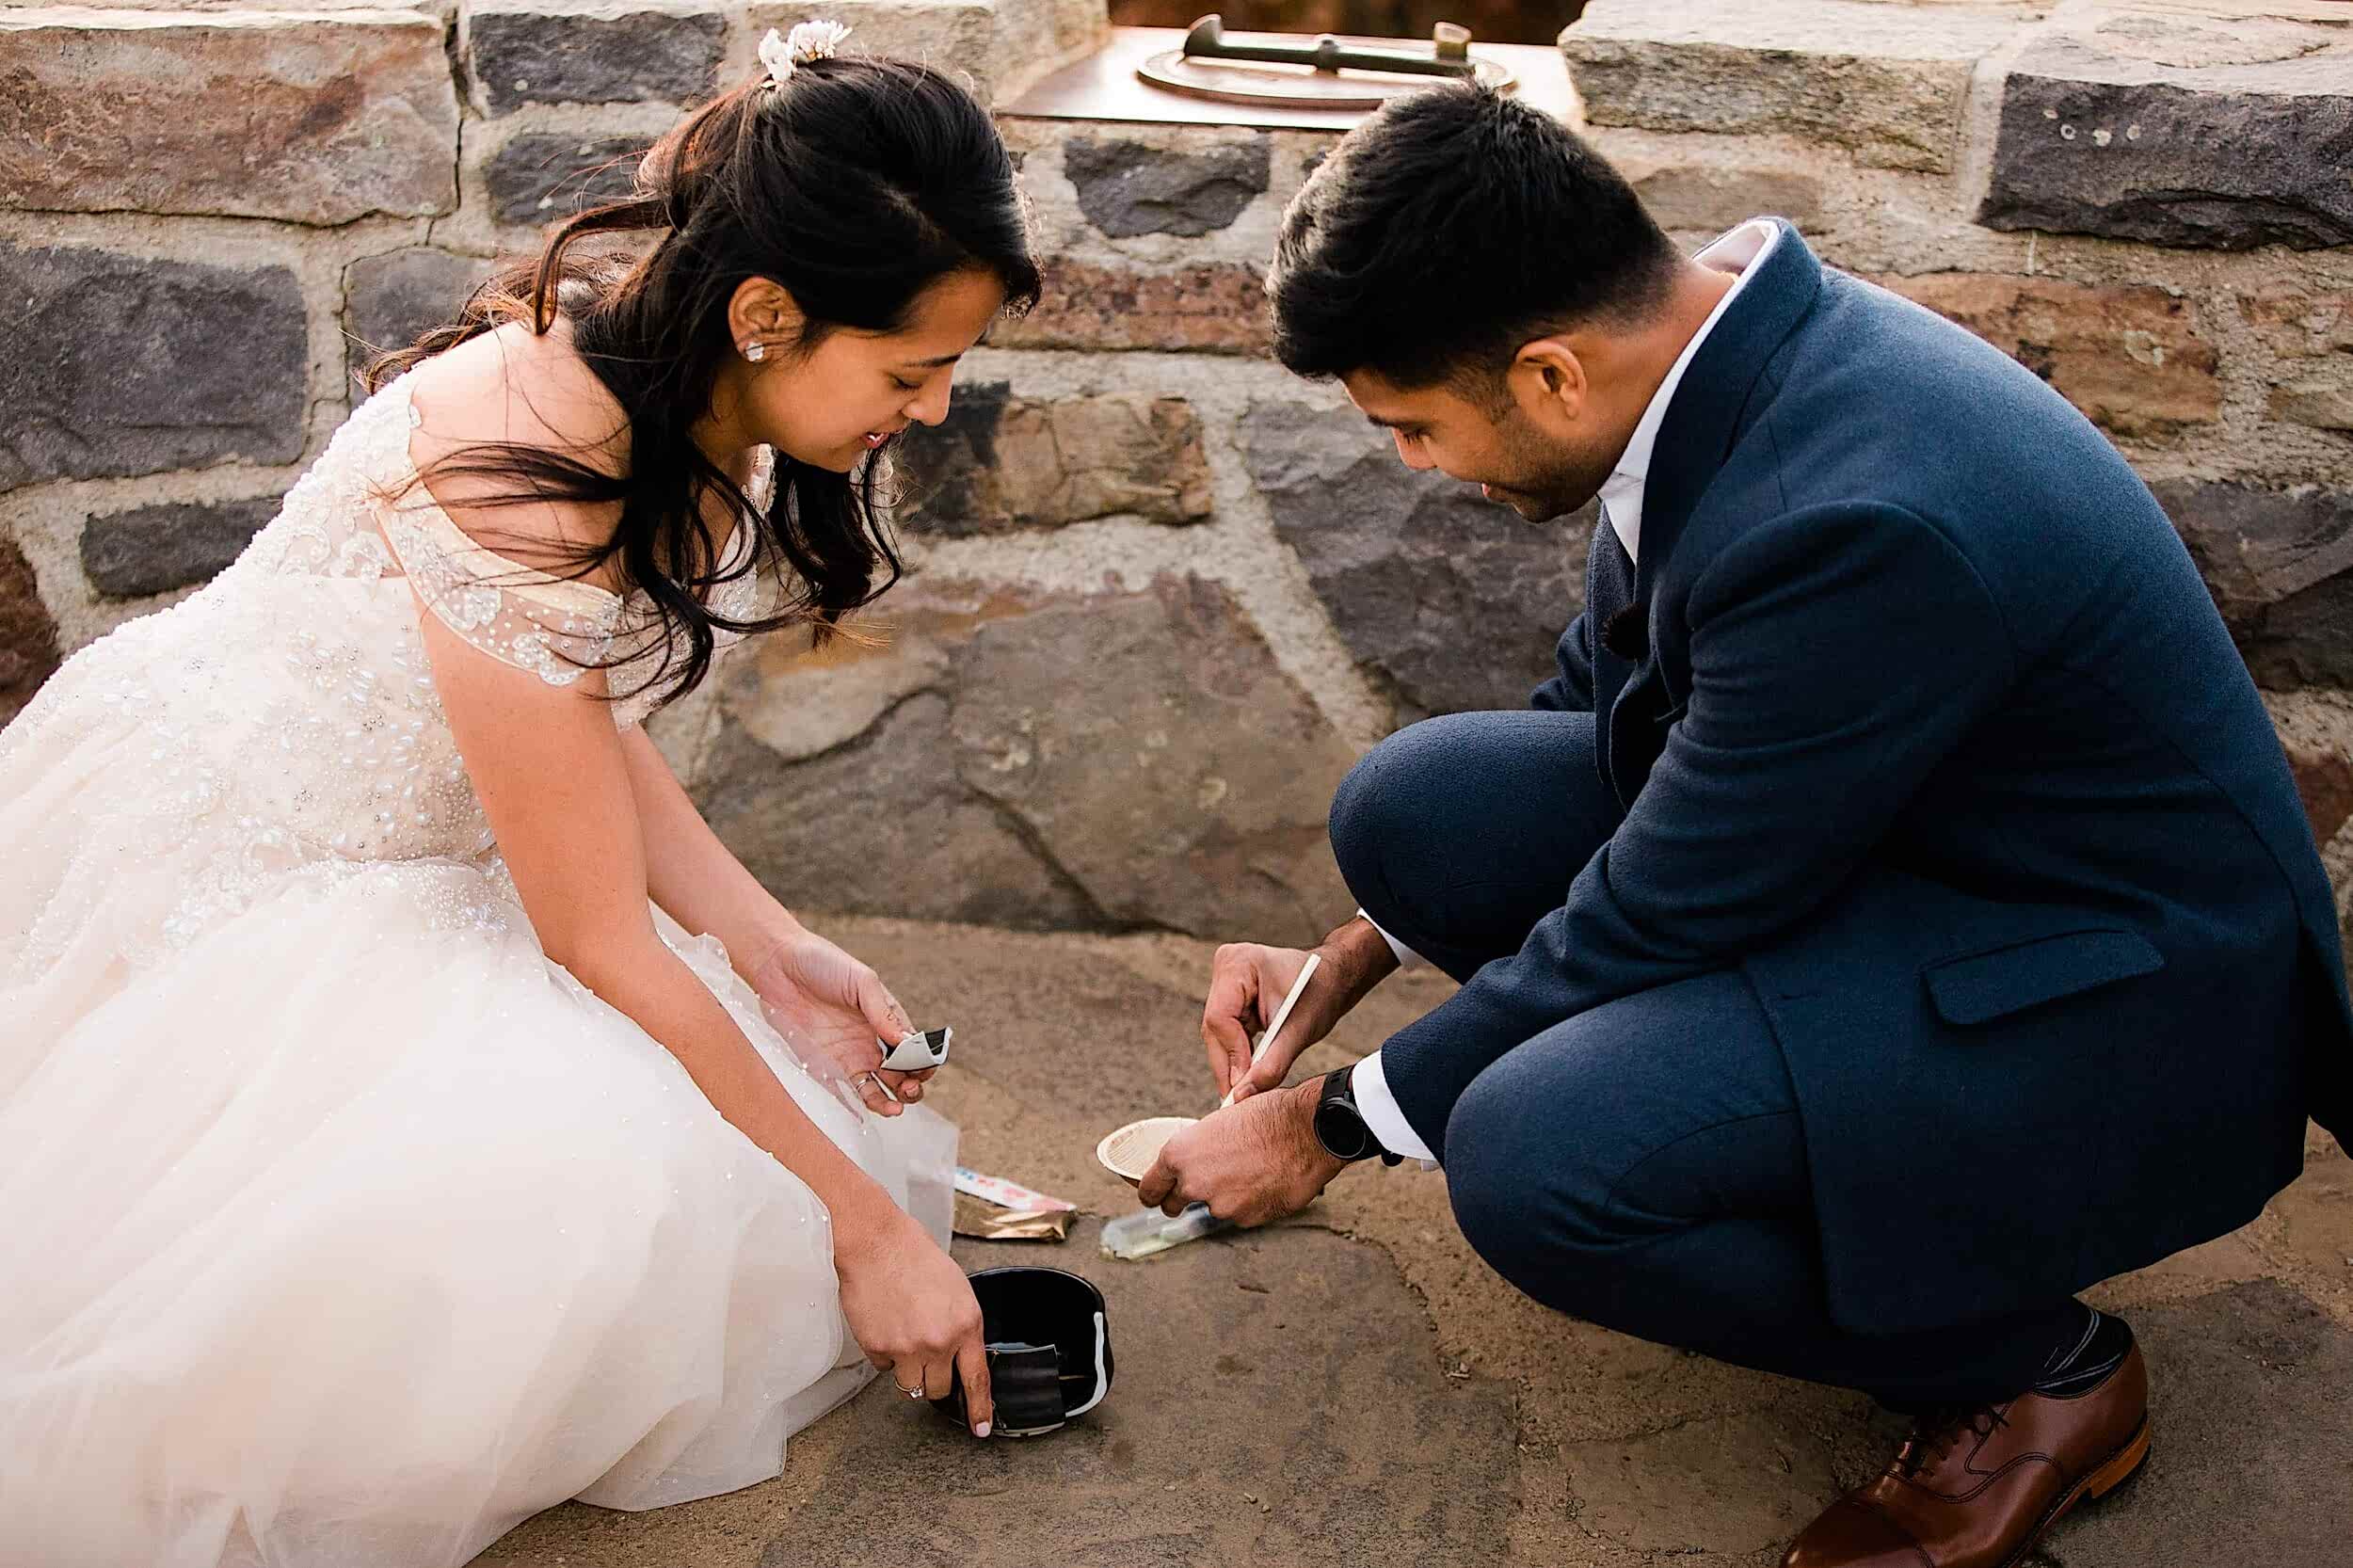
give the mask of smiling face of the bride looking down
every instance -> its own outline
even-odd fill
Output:
[[[760,360],[734,360],[715,412],[748,445],[847,473],[906,426],[948,417],[955,363],[1002,308],[1005,285],[993,273],[960,271],[927,287],[896,332],[840,327],[807,356],[793,356],[791,334],[776,332]],[[765,339],[753,327],[736,344],[746,337]]]

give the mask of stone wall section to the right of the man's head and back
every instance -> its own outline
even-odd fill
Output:
[[[1593,0],[1588,134],[2042,374],[2148,478],[2353,909],[2353,7]]]

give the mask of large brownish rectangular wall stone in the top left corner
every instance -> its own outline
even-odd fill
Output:
[[[421,12],[0,9],[0,207],[456,207],[456,87]]]

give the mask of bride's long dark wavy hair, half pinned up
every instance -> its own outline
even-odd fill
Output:
[[[567,254],[584,235],[631,231],[656,238],[633,257]],[[812,622],[824,638],[899,579],[875,506],[885,454],[845,476],[779,452],[762,511],[694,445],[689,431],[736,353],[727,330],[736,287],[746,278],[784,285],[805,315],[786,353],[807,353],[835,327],[901,327],[929,285],[967,268],[995,275],[1012,311],[1038,299],[1012,158],[988,111],[925,66],[816,59],[788,82],[762,73],[694,111],[640,160],[635,195],[558,226],[536,261],[492,275],[454,323],[369,363],[367,386],[499,325],[548,332],[558,311],[572,318],[579,356],[628,414],[628,473],[508,443],[461,447],[433,469],[513,480],[487,504],[619,501],[612,539],[576,551],[567,574],[619,556],[668,647],[652,680],[682,657],[675,699],[711,669],[715,626],[758,633]],[[755,549],[725,572],[704,527],[713,492],[755,530]],[[786,584],[774,614],[732,622],[704,605],[713,584],[762,567]]]

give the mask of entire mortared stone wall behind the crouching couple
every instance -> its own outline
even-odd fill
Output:
[[[807,9],[0,12],[0,297],[26,301],[0,363],[0,704],[235,553],[348,410],[355,339],[445,315]],[[1101,24],[1071,0],[835,14],[1005,101]],[[1593,0],[1562,38],[1588,134],[1680,240],[1791,217],[2108,431],[2207,570],[2339,869],[2348,24],[2301,0]],[[179,129],[89,111],[155,92],[158,40]],[[224,146],[256,94],[285,129]],[[656,735],[805,906],[1308,937],[1346,913],[1320,829],[1351,758],[1520,702],[1591,518],[1529,530],[1412,476],[1266,358],[1264,259],[1329,134],[1002,122],[1049,290],[908,447],[887,638],[772,640]]]

